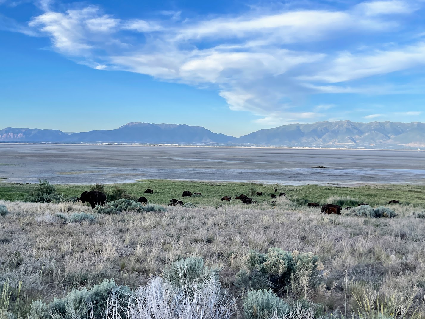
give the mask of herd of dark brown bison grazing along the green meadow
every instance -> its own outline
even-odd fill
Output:
[[[278,189],[275,188],[275,193],[277,193]],[[144,191],[144,194],[153,194],[153,190],[152,189],[147,189],[146,191]],[[258,191],[255,193],[257,196],[263,196],[263,193]],[[192,193],[191,191],[183,191],[183,194],[181,194],[181,197],[191,197],[192,195],[202,195],[201,193]],[[279,197],[286,197],[286,193],[279,193]],[[270,198],[271,199],[275,199],[277,198],[277,196],[275,194],[270,194]],[[96,205],[103,205],[106,202],[106,194],[102,193],[101,191],[85,191],[84,193],[82,193],[80,195],[80,197],[78,198],[83,204],[85,202],[90,203],[91,208],[94,209],[96,207]],[[248,197],[244,194],[241,194],[237,197],[235,197],[235,199],[239,199],[242,203],[249,205],[249,204],[255,204],[257,203],[256,201],[252,200],[251,197]],[[221,201],[227,201],[230,202],[232,200],[232,197],[230,196],[223,196],[221,197]],[[137,199],[138,202],[140,203],[147,203],[147,198],[146,197],[139,197],[139,199]],[[276,201],[272,201],[272,203],[275,203]],[[398,200],[390,200],[388,202],[388,204],[399,204],[400,202]],[[183,205],[183,202],[181,200],[177,200],[177,199],[170,199],[170,204],[168,204],[168,206],[176,206],[176,205]],[[360,203],[358,204],[358,206],[362,206],[362,205],[369,205],[366,203]],[[320,207],[319,204],[311,202],[307,204],[308,207]],[[345,210],[350,210],[352,207],[346,207],[344,208]],[[337,215],[341,215],[341,210],[342,207],[340,205],[334,205],[334,204],[326,204],[321,206],[321,211],[320,214],[324,213],[324,214],[337,214]]]

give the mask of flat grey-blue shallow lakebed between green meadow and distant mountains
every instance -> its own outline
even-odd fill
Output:
[[[2,177],[6,182],[47,179],[57,184],[137,179],[425,184],[425,152],[0,143]]]

